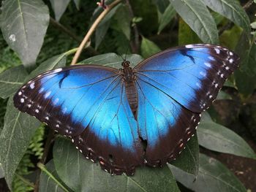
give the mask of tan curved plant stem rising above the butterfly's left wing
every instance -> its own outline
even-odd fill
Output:
[[[91,28],[89,28],[89,31],[87,32],[86,36],[83,38],[83,41],[79,45],[78,51],[75,53],[75,56],[74,56],[74,58],[72,60],[71,65],[75,65],[78,62],[78,58],[79,58],[80,54],[82,53],[83,47],[86,45],[87,42],[89,42],[89,39],[90,39],[91,35],[94,33],[95,29],[97,28],[99,23],[102,21],[102,19],[105,18],[105,15],[107,15],[108,12],[110,12],[110,10],[113,9],[113,7],[115,7],[120,2],[121,2],[121,0],[113,1],[113,3],[108,5],[106,7],[106,9],[104,9],[104,11],[94,21],[94,23],[92,24]]]

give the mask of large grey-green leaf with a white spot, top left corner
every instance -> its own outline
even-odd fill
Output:
[[[4,39],[24,66],[34,66],[48,28],[48,7],[41,0],[8,0],[2,1],[1,10]]]

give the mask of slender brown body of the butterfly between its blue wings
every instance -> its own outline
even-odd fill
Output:
[[[127,93],[127,99],[129,102],[129,106],[132,109],[132,113],[137,118],[137,108],[138,108],[138,93],[135,87],[135,76],[132,71],[132,68],[129,67],[129,61],[124,61],[122,63],[124,67],[122,72],[124,74],[124,84],[125,84],[125,91]]]

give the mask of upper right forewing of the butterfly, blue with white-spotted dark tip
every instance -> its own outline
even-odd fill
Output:
[[[135,66],[135,73],[188,110],[202,112],[237,67],[237,55],[226,48],[187,45],[153,55]]]

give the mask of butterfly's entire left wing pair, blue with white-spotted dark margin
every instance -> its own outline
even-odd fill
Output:
[[[120,71],[81,65],[55,69],[29,81],[14,96],[18,110],[34,115],[113,174],[141,164],[138,126]]]

